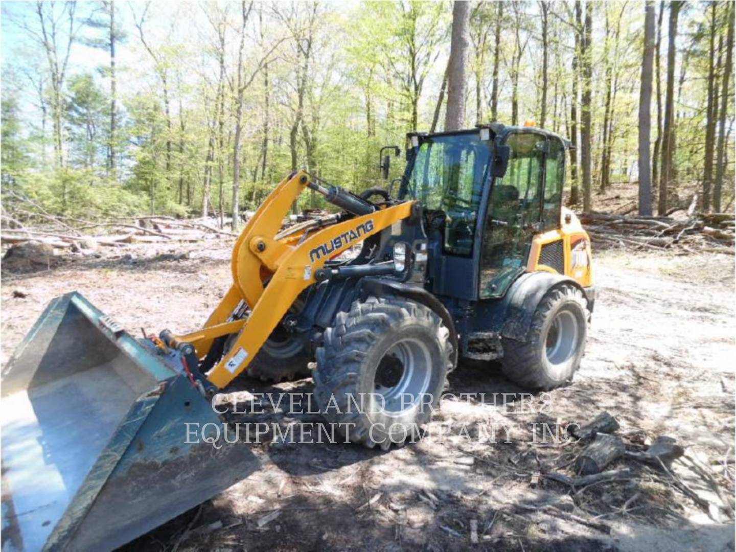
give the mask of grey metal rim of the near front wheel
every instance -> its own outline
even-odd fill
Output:
[[[413,408],[428,392],[431,355],[417,339],[394,343],[378,362],[374,376],[375,394],[383,397],[386,414],[402,414]]]

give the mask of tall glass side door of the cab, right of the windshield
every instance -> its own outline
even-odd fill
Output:
[[[493,180],[486,210],[481,274],[482,298],[501,297],[524,272],[534,235],[542,228],[542,182],[549,142],[532,130],[509,134],[509,164]]]

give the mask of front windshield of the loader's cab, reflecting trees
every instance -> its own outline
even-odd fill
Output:
[[[422,137],[406,193],[425,210],[445,213],[445,251],[473,252],[475,220],[488,178],[490,142],[478,132]]]

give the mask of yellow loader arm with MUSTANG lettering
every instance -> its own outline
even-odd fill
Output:
[[[317,269],[358,241],[411,216],[413,202],[404,202],[314,233],[306,230],[299,241],[294,236],[278,238],[283,218],[308,184],[308,174],[299,171],[277,185],[236,240],[230,290],[202,330],[174,338],[193,345],[202,358],[214,339],[239,332],[230,350],[207,374],[208,381],[219,388],[247,369],[299,294],[316,282]],[[250,316],[232,320],[241,301],[250,307]]]

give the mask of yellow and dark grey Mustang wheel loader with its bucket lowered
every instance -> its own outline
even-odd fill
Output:
[[[184,429],[221,423],[210,401],[241,374],[311,372],[325,420],[383,449],[428,421],[461,358],[529,389],[570,381],[595,289],[590,239],[562,206],[568,147],[489,124],[409,134],[388,189],[289,174],[190,333],[135,338],[80,294],[52,301],[2,374],[3,548],[115,548],[258,470],[249,447]],[[305,190],[336,212],[284,230]]]

